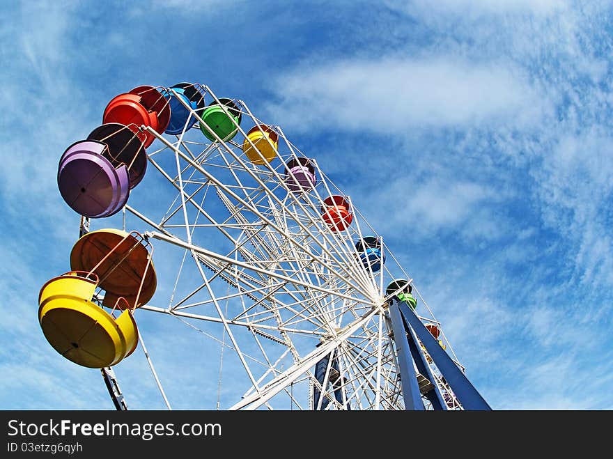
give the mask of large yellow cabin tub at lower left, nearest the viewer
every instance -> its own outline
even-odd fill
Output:
[[[49,344],[88,368],[118,364],[138,344],[132,311],[114,318],[92,302],[97,287],[91,273],[70,271],[47,281],[38,295],[38,320]]]

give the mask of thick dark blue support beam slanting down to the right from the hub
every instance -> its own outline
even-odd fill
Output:
[[[438,341],[428,332],[426,326],[419,320],[415,313],[404,302],[398,301],[396,297],[391,299],[389,309],[392,306],[398,305],[403,318],[407,324],[417,334],[417,338],[424,344],[430,358],[433,359],[440,373],[443,375],[447,384],[453,390],[453,394],[460,401],[465,410],[491,410],[492,408],[486,400],[474,388],[471,382],[466,378],[466,375],[458,368],[456,363],[451,360],[447,352],[443,350]],[[396,330],[394,329],[394,334]]]

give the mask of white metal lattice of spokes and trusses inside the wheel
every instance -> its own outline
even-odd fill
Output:
[[[219,102],[210,88],[201,89]],[[146,222],[149,240],[170,244],[183,260],[169,303],[141,309],[209,334],[206,352],[225,349],[238,357],[233,382],[243,389],[226,408],[404,409],[384,284],[411,278],[350,197],[281,127],[269,125],[278,134],[277,146],[269,139],[277,157],[251,162],[243,142],[256,146],[246,131],[264,123],[245,102],[235,103],[242,121],[235,123],[232,140],[210,130],[216,139],[210,142],[197,129],[161,136],[143,126],[162,145],[148,152],[155,169],[148,174],[160,179],[156,200],[166,212],[151,215],[129,205],[126,210]],[[288,162],[298,157],[311,159],[317,177],[314,187],[302,191],[288,186],[294,178]],[[353,221],[347,228],[322,219],[332,195],[350,203]],[[355,247],[366,236],[380,238],[387,258],[378,272],[362,263]],[[438,323],[429,309],[424,320]],[[331,355],[325,376],[316,378],[313,367]],[[445,389],[440,375],[435,379],[424,387]],[[453,399],[449,407],[460,408]]]

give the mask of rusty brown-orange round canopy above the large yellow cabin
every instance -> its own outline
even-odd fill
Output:
[[[153,297],[157,287],[148,246],[149,242],[137,231],[91,231],[72,247],[70,268],[98,275],[99,286],[105,292],[103,306],[113,308],[123,297],[130,308],[138,308]],[[121,304],[117,307],[123,309]]]

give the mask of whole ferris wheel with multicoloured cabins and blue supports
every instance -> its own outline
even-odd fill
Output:
[[[489,409],[384,236],[280,125],[192,83],[137,86],[101,113],[59,161],[79,239],[38,318],[117,409],[130,391],[113,368],[139,347],[173,405],[180,375],[147,351],[147,314],[219,362],[209,385],[227,401],[206,409]]]

